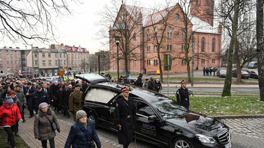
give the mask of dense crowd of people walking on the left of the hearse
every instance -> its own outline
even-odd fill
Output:
[[[86,134],[90,137],[90,140],[87,143],[94,140],[96,145],[100,147],[100,140],[94,130],[93,123],[87,119],[87,114],[82,114],[83,116],[78,114],[78,111],[83,110],[83,90],[86,90],[89,86],[86,82],[79,82],[74,79],[68,79],[67,82],[63,80],[47,82],[44,79],[7,76],[0,77],[0,83],[0,127],[3,127],[8,134],[8,143],[11,147],[16,147],[14,135],[19,136],[19,123],[26,122],[25,108],[28,108],[30,112],[29,118],[35,116],[35,138],[41,140],[42,147],[47,147],[47,140],[50,141],[50,147],[55,147],[55,131],[61,131],[52,107],[67,117],[70,117],[69,111],[72,112],[73,119],[76,121],[75,125],[80,124],[88,130]],[[75,127],[75,125],[73,126]],[[78,130],[83,131],[82,129]],[[94,132],[90,130],[94,130]],[[71,131],[69,137],[77,136],[76,133],[74,133],[74,136],[72,134]],[[83,143],[80,143],[80,145],[78,142],[74,143],[76,138],[68,140],[65,147],[69,145],[83,147]],[[89,147],[89,144],[87,147]]]

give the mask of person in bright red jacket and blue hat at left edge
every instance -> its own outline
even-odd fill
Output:
[[[8,133],[8,141],[13,148],[16,147],[16,143],[14,141],[12,127],[16,124],[17,118],[20,122],[23,121],[19,107],[14,103],[13,99],[7,99],[3,102],[3,106],[0,107],[0,125]]]

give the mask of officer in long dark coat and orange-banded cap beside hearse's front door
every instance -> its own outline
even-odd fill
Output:
[[[129,147],[133,140],[135,106],[133,99],[129,97],[128,87],[122,88],[122,97],[117,100],[113,119],[118,123],[118,143],[124,148]]]

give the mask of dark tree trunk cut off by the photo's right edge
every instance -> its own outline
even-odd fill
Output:
[[[258,55],[259,90],[264,101],[264,34],[263,34],[263,0],[256,1],[256,52]]]

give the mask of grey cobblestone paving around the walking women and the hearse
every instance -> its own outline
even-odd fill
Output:
[[[65,141],[69,134],[71,125],[74,123],[72,116],[67,118],[60,113],[56,112],[56,116],[61,126],[61,133],[56,132],[55,144],[56,147],[64,147]],[[25,109],[26,123],[19,123],[19,134],[25,143],[32,148],[41,147],[41,141],[34,138],[34,117],[28,118],[28,110]],[[232,132],[232,147],[234,148],[259,148],[264,145],[264,118],[256,119],[222,119],[228,125]],[[122,145],[118,144],[118,136],[115,132],[98,128],[96,130],[102,143],[102,148],[121,148]],[[145,143],[144,141],[136,141],[137,148],[153,148],[157,147]],[[49,146],[49,144],[48,144]],[[134,143],[129,145],[129,148],[134,147]]]

